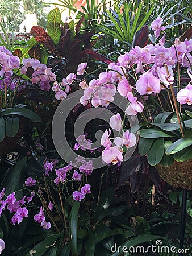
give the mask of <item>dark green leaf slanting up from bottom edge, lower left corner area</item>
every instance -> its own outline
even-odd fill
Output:
[[[51,234],[40,243],[37,243],[37,245],[32,248],[32,250],[36,251],[35,256],[43,256],[60,236],[61,234]]]

